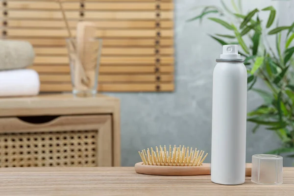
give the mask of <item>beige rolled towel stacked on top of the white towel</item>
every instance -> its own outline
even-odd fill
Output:
[[[0,71],[26,68],[33,64],[34,58],[29,42],[0,40]]]

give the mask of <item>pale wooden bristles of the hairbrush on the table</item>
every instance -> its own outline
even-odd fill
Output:
[[[153,148],[147,148],[146,150],[139,151],[140,157],[144,165],[157,165],[157,166],[201,166],[207,154],[203,156],[204,151],[195,150],[189,147],[172,147],[167,150],[166,146],[163,148],[161,146]]]

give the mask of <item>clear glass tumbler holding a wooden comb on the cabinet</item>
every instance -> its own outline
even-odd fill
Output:
[[[98,89],[98,73],[102,50],[102,39],[94,38],[78,43],[75,38],[66,39],[71,70],[73,95],[95,97]]]

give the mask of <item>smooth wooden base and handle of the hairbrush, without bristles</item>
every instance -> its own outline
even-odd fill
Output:
[[[201,166],[154,166],[139,162],[135,164],[135,171],[149,175],[210,175],[210,163]],[[246,163],[245,176],[251,176],[251,163]]]

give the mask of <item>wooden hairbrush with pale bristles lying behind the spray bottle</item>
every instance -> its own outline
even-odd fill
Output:
[[[210,164],[203,163],[208,153],[189,147],[166,146],[139,151],[142,162],[135,164],[135,171],[150,175],[210,175]],[[246,164],[245,176],[251,176],[251,164]]]

